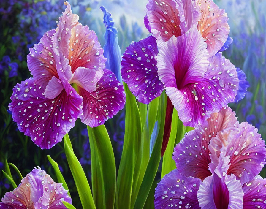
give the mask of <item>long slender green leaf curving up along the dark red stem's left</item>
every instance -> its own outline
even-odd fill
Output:
[[[143,208],[145,201],[148,197],[149,191],[151,189],[153,180],[155,178],[156,172],[159,167],[159,162],[161,160],[162,140],[164,135],[166,102],[167,102],[167,96],[165,94],[165,91],[163,91],[162,95],[160,96],[159,108],[157,111],[157,118],[156,118],[156,121],[158,121],[159,133],[137,195],[134,209]]]

